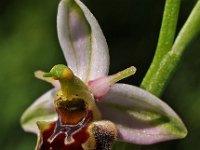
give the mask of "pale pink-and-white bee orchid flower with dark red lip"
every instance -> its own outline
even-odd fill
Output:
[[[54,88],[22,115],[25,131],[38,135],[36,149],[111,149],[115,140],[153,144],[183,138],[187,129],[162,100],[139,87],[116,83],[135,67],[108,76],[102,30],[80,0],[61,0],[58,38],[67,65],[36,77]]]

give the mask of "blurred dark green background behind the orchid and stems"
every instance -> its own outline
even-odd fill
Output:
[[[23,111],[51,85],[34,78],[35,70],[65,63],[56,34],[59,0],[0,1],[0,149],[33,150],[36,136],[19,123]],[[182,0],[178,29],[195,0]],[[139,85],[154,55],[164,0],[84,0],[107,39],[110,73],[131,65],[134,77],[124,82]],[[187,48],[170,81],[164,99],[183,119],[189,134],[142,150],[200,149],[200,36]],[[122,145],[122,143],[118,143]],[[118,146],[118,145],[115,145]],[[134,145],[123,145],[133,149]]]

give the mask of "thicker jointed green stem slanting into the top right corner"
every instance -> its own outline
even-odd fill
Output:
[[[200,0],[197,1],[190,16],[179,32],[171,51],[159,62],[154,75],[149,79],[148,85],[142,84],[151,93],[161,96],[173,72],[180,62],[186,47],[200,32]]]

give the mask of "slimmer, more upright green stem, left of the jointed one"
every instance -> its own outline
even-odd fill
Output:
[[[179,8],[180,0],[166,0],[155,56],[141,83],[141,87],[146,90],[149,90],[149,83],[155,75],[161,60],[171,50],[176,32]]]

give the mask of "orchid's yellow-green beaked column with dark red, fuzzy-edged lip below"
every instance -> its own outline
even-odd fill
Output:
[[[98,121],[100,113],[87,86],[64,65],[56,65],[44,76],[59,80],[54,96],[57,121],[37,123],[37,150],[109,150],[117,130],[110,121]]]

